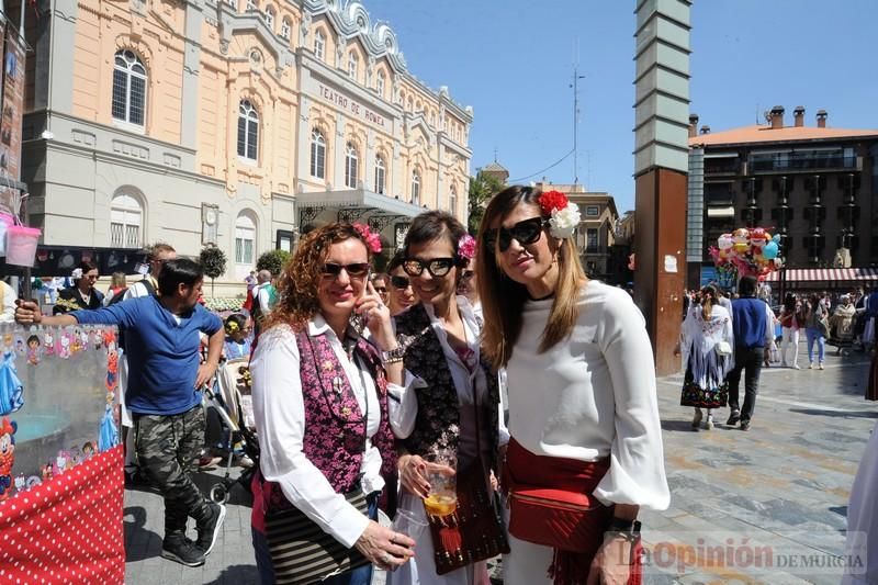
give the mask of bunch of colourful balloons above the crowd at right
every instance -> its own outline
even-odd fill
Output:
[[[747,274],[756,277],[759,282],[783,266],[780,254],[780,236],[768,233],[763,227],[752,229],[740,228],[731,234],[717,238],[717,246],[708,250],[717,267],[720,286],[728,286],[724,281],[735,280]]]

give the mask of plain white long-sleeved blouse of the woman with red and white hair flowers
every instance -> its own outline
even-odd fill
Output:
[[[666,509],[671,495],[643,315],[623,290],[589,281],[570,338],[541,353],[552,302],[525,304],[507,365],[510,435],[539,455],[609,455],[610,469],[594,492],[600,502]]]

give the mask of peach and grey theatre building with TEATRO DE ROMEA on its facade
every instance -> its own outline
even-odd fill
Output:
[[[425,207],[465,223],[472,110],[414,77],[358,1],[38,0],[35,14],[22,180],[46,245],[215,243],[238,281],[319,223],[369,223],[389,247]]]

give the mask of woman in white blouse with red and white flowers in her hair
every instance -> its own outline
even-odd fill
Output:
[[[491,200],[480,230],[483,350],[508,372],[506,585],[628,582],[640,571],[639,509],[669,503],[644,319],[623,290],[586,279],[578,223],[564,194],[514,185]],[[532,516],[516,525],[521,484],[603,504],[587,515],[593,548],[536,543],[558,530]]]

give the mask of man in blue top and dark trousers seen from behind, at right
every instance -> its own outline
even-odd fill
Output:
[[[756,406],[759,373],[765,347],[774,339],[772,307],[756,299],[756,277],[744,277],[738,284],[740,299],[732,301],[732,328],[734,329],[734,368],[729,372],[729,408],[727,425],[741,421],[741,430],[750,430],[750,419]],[[741,371],[744,371],[744,407],[738,405]]]

